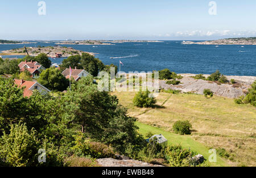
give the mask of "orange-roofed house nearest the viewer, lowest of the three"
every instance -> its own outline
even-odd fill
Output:
[[[34,90],[38,90],[40,93],[50,92],[48,88],[42,86],[42,84],[35,81],[15,79],[14,84],[16,84],[18,87],[25,87],[23,91],[23,95],[27,97],[30,97],[33,94]]]

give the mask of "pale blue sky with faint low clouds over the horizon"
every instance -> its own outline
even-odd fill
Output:
[[[255,0],[44,0],[46,6],[38,6],[39,2],[0,1],[0,39],[214,40],[256,36]]]

